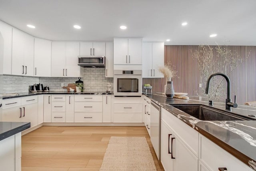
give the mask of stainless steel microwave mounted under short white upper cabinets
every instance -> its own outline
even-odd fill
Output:
[[[105,56],[78,56],[78,65],[81,67],[106,67]]]

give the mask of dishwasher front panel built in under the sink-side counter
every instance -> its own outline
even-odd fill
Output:
[[[150,140],[156,156],[160,160],[161,152],[161,107],[151,100],[150,103]]]

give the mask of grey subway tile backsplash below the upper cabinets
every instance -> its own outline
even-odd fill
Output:
[[[21,93],[28,92],[29,86],[41,83],[48,86],[50,91],[67,91],[61,84],[67,86],[69,83],[75,83],[78,78],[68,77],[25,77],[25,76],[3,76],[3,93]],[[105,78],[105,68],[84,68],[84,92],[105,92],[108,83],[112,83],[113,78]]]

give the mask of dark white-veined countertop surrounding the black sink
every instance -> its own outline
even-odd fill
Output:
[[[173,104],[204,104],[208,98],[190,97],[190,99],[167,99],[162,93],[146,94],[152,101],[158,103],[172,115],[234,155],[240,161],[256,170],[256,118],[248,121],[202,121],[173,107]],[[214,108],[225,110],[225,102],[214,100]],[[232,113],[248,117],[256,115],[256,107],[238,104],[232,108]]]

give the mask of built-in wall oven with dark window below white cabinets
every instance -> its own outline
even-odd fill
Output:
[[[141,96],[142,70],[114,70],[114,96]]]

